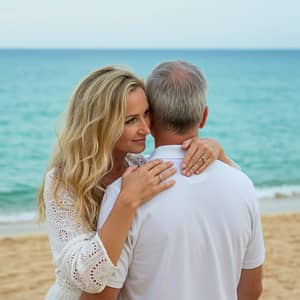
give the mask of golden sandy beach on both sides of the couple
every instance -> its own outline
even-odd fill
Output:
[[[300,299],[300,214],[263,216],[263,300]],[[18,235],[16,235],[18,232]],[[54,280],[45,227],[0,225],[1,299],[43,299]]]

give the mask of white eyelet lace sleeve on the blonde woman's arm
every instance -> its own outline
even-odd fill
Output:
[[[44,200],[57,280],[68,289],[99,293],[117,268],[97,232],[88,232],[81,224],[70,194],[60,189],[62,205],[55,201],[51,189],[54,176],[54,170],[46,176]]]

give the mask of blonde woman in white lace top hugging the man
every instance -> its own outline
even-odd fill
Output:
[[[142,115],[127,115],[128,99],[137,90],[144,97],[143,82],[133,74],[106,67],[85,78],[72,96],[38,197],[56,268],[47,299],[79,299],[82,291],[100,292],[116,269],[136,209],[174,184],[166,181],[176,172],[169,162],[146,163],[137,155],[150,133],[149,108]],[[124,135],[132,130],[136,133]],[[185,161],[187,175],[199,173],[219,156],[228,162],[216,142],[205,143],[215,150],[195,139]],[[105,187],[120,176],[116,204],[96,231]]]

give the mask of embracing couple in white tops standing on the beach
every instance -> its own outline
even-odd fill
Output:
[[[146,86],[116,67],[79,84],[38,199],[56,268],[46,299],[259,298],[256,193],[216,141],[198,138],[206,94],[182,61],[158,65]]]

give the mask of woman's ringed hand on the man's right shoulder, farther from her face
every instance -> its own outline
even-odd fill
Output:
[[[181,147],[183,150],[187,150],[182,162],[182,174],[186,176],[199,174],[216,159],[226,158],[221,145],[209,138],[194,137],[186,140]]]

